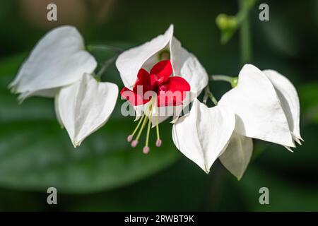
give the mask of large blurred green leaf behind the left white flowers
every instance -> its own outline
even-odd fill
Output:
[[[180,156],[169,123],[160,125],[160,148],[151,146],[148,155],[142,153],[142,141],[131,148],[126,136],[134,128],[133,117],[122,117],[122,102],[102,129],[73,148],[55,119],[52,99],[33,97],[18,105],[6,89],[22,61],[23,56],[18,56],[0,62],[0,186],[32,191],[54,186],[64,193],[102,191],[149,177]]]

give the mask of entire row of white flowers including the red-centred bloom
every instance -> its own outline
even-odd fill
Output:
[[[252,156],[252,138],[288,150],[295,142],[301,144],[298,94],[287,78],[246,64],[232,83],[235,87],[208,107],[198,100],[208,88],[208,73],[174,37],[173,29],[170,25],[163,35],[122,52],[116,60],[124,83],[120,95],[139,120],[127,138],[132,147],[146,129],[143,153],[149,153],[152,127],[160,147],[159,124],[173,117],[177,149],[206,173],[219,159],[240,179]],[[57,119],[76,147],[106,123],[117,102],[117,85],[95,79],[96,66],[76,28],[59,27],[35,46],[10,88],[20,93],[20,101],[35,95],[54,97]],[[190,103],[191,111],[182,116]]]

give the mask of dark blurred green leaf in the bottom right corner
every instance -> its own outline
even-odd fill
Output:
[[[266,172],[267,171],[267,172]],[[242,183],[232,183],[254,211],[317,211],[318,191],[312,184],[290,182],[266,169],[251,167]],[[269,205],[259,203],[259,189],[269,189]]]

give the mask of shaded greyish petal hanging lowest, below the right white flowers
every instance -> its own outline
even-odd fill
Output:
[[[252,138],[233,133],[228,147],[225,152],[220,155],[220,162],[228,171],[230,171],[237,179],[241,179],[249,160],[252,157],[253,142]]]

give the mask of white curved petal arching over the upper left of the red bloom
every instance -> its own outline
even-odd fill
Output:
[[[170,25],[165,34],[159,35],[139,47],[128,49],[119,55],[116,60],[116,66],[127,88],[131,88],[131,86],[134,85],[139,69],[141,69],[143,64],[153,57],[154,54],[167,46],[172,35],[173,25]]]

